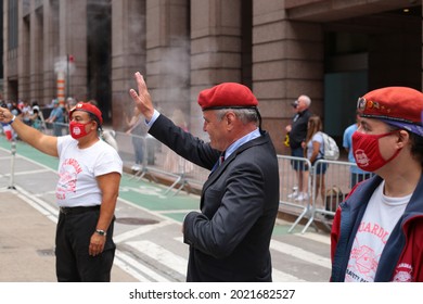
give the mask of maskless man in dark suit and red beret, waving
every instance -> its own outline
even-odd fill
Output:
[[[131,89],[130,94],[149,132],[211,170],[201,212],[183,220],[183,241],[190,245],[187,281],[271,281],[269,244],[279,206],[279,169],[253,92],[234,83],[200,92],[203,129],[210,139],[204,142],[154,110],[140,73],[136,80],[138,92]]]

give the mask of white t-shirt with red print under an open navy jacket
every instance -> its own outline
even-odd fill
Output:
[[[373,282],[379,259],[390,232],[403,214],[412,194],[388,198],[385,181],[373,192],[361,219],[349,255],[346,282]]]

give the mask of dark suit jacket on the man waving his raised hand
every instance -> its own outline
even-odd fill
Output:
[[[150,134],[211,169],[220,152],[161,115]],[[279,207],[278,159],[267,132],[241,145],[203,186],[201,213],[183,223],[188,281],[271,281],[269,243]]]

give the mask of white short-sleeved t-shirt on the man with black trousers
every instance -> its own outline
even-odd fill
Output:
[[[123,162],[110,144],[99,140],[79,149],[70,136],[57,137],[59,181],[55,190],[62,207],[93,206],[102,202],[95,177],[116,172],[121,175]]]

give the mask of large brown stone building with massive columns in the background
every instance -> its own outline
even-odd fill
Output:
[[[302,93],[338,140],[357,98],[422,89],[422,0],[4,0],[4,99],[95,99],[124,128],[133,73],[203,137],[198,92],[242,83],[279,153]]]

